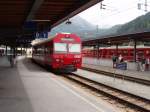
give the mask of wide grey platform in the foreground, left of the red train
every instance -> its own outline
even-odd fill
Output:
[[[0,112],[117,112],[103,102],[100,107],[58,77],[24,57],[13,68],[1,57]]]

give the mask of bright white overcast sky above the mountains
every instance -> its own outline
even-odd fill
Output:
[[[148,11],[150,11],[150,0],[147,1]],[[145,14],[145,0],[104,0],[102,3],[106,5],[104,6],[106,9],[100,9],[100,4],[97,4],[80,13],[79,16],[91,24],[98,25],[99,28],[108,28],[116,24],[124,24]],[[138,10],[138,3],[143,3],[141,10]]]

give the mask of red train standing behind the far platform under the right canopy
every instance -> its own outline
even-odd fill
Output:
[[[142,56],[150,59],[150,46],[137,46],[136,52],[138,59],[142,58]],[[101,47],[99,50],[93,47],[84,47],[82,49],[83,57],[111,59],[112,56],[116,54],[118,54],[118,56],[121,54],[125,61],[132,62],[134,60],[133,46],[121,46],[118,48],[118,53],[115,47]]]

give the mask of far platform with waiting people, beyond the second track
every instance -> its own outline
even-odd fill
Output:
[[[91,68],[150,81],[150,71],[137,71],[133,69],[120,70],[113,68],[112,65],[112,60],[96,60],[92,58],[83,58],[82,63],[83,68]]]

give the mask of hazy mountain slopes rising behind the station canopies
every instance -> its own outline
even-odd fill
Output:
[[[150,31],[150,12],[140,16],[126,24],[115,25],[109,29],[98,29],[79,16],[75,16],[70,20],[71,24],[62,23],[52,29],[50,35],[55,35],[58,32],[76,33],[82,39],[96,38],[111,35],[129,34],[135,32]]]

